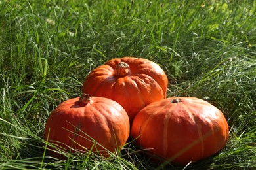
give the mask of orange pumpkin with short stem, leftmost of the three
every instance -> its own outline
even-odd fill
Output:
[[[92,150],[108,157],[121,148],[130,131],[129,117],[116,101],[103,97],[81,95],[60,103],[45,124],[44,139],[57,145],[49,154],[65,159],[62,149],[75,153]]]

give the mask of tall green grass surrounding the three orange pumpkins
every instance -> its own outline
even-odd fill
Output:
[[[248,169],[256,167],[256,1],[0,0],[0,169]],[[158,63],[168,97],[224,112],[227,146],[186,167],[156,165],[133,143],[104,160],[45,153],[51,111],[85,76],[122,56]]]

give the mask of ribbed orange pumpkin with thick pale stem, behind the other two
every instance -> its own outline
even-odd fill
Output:
[[[130,121],[146,105],[166,98],[167,76],[148,59],[114,58],[100,65],[83,82],[83,93],[107,97],[126,110]]]

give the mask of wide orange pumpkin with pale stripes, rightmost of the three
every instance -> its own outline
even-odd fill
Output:
[[[207,101],[169,97],[140,110],[133,120],[131,136],[140,148],[153,148],[147,151],[149,154],[186,165],[221,150],[228,141],[228,123]]]

